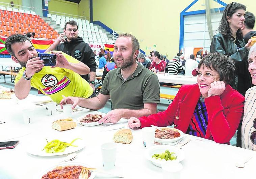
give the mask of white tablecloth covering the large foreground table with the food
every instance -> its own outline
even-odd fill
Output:
[[[34,178],[41,170],[46,170],[62,161],[66,155],[53,157],[34,156],[26,152],[27,146],[35,140],[49,138],[49,136],[55,139],[60,135],[69,139],[80,137],[86,141],[86,147],[77,152],[78,157],[74,162],[83,162],[95,168],[102,168],[100,145],[105,142],[112,142],[113,135],[117,130],[102,131],[105,128],[103,124],[92,127],[78,125],[76,128],[67,131],[54,130],[51,127],[52,122],[61,119],[61,114],[46,115],[45,106],[33,106],[31,101],[34,97],[29,95],[24,100],[17,100],[14,96],[9,100],[0,99],[1,119],[7,121],[4,124],[0,124],[1,136],[8,136],[11,131],[12,135],[10,136],[12,138],[16,136],[11,141],[20,141],[20,144],[14,149],[0,150],[0,169],[10,173],[17,179]],[[23,108],[35,108],[36,118],[32,124],[23,124],[21,113]],[[72,113],[72,117],[77,119],[88,113],[94,112],[85,109],[81,112]],[[127,124],[125,119],[120,122]],[[19,137],[22,135],[25,136]],[[131,144],[118,144],[116,170],[123,171],[127,179],[162,178],[161,168],[154,166],[151,161],[144,157],[145,149],[142,142],[142,130],[132,130],[132,135],[133,141]],[[242,179],[255,176],[255,151],[226,144],[217,144],[194,136],[187,135],[187,137],[191,138],[192,141],[182,148],[185,152],[185,159],[181,161],[183,165],[182,179]],[[236,159],[249,155],[252,155],[253,158],[246,163],[245,168],[235,167]],[[97,174],[96,178],[102,178],[102,175]],[[109,176],[109,178],[111,177]]]

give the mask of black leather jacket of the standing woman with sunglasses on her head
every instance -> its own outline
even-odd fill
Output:
[[[233,41],[234,38],[217,33],[213,36],[211,41],[211,53],[219,52],[223,55],[229,55],[235,61],[237,91],[245,96],[246,91],[252,87],[252,80],[248,71],[247,62],[249,51],[245,48],[244,39],[238,39],[237,45]],[[234,80],[234,82],[235,81],[236,80]],[[231,86],[235,88],[234,85]]]

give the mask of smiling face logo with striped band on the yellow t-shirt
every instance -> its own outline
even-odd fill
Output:
[[[52,74],[46,74],[42,80],[42,84],[46,86],[46,88],[42,89],[46,94],[54,94],[62,89],[66,88],[68,84],[71,82],[70,79],[64,76],[60,81]]]

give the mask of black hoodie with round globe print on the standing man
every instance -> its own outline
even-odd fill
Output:
[[[77,37],[75,40],[58,44],[56,47],[57,51],[62,51],[75,59],[86,64],[91,71],[96,72],[96,62],[95,55],[91,47],[83,41],[82,37]],[[85,80],[87,80],[87,75],[81,75]]]

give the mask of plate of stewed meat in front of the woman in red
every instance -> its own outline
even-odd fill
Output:
[[[162,130],[156,129],[154,141],[160,143],[172,143],[183,138],[184,133],[171,127],[160,127]]]

